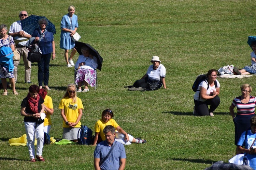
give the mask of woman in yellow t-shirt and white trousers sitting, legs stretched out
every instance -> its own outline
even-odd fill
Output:
[[[130,145],[131,143],[146,143],[145,139],[140,139],[140,138],[134,138],[133,136],[129,135],[126,133],[117,123],[114,119],[113,112],[111,109],[106,109],[102,112],[101,119],[98,120],[94,126],[95,130],[95,137],[94,137],[94,143],[93,145],[95,146],[97,143],[100,141],[104,141],[105,135],[103,133],[103,129],[107,125],[112,125],[116,129],[116,141],[122,143],[123,145]],[[99,138],[100,135],[100,138]]]

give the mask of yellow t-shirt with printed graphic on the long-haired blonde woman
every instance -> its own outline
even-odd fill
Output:
[[[69,122],[75,123],[76,119],[78,117],[78,109],[84,109],[82,100],[76,97],[76,103],[72,103],[72,98],[65,97],[61,99],[59,103],[59,109],[64,109],[64,114]],[[69,125],[66,125],[66,123],[63,120],[62,123],[63,128],[69,128]],[[74,128],[80,128],[81,122],[79,121],[77,125],[75,125]]]

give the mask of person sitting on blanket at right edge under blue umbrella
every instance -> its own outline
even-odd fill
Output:
[[[246,74],[256,74],[256,41],[251,44],[253,52],[251,52],[251,66],[245,66],[242,70],[239,70],[237,67],[234,67],[233,72],[234,74],[238,75],[246,75]]]

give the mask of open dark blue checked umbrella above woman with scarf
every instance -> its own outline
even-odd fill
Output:
[[[20,22],[22,24],[22,30],[32,35],[34,30],[39,28],[38,20],[41,18],[45,18],[48,21],[48,24],[46,26],[47,31],[52,32],[53,34],[56,34],[55,25],[51,21],[49,21],[46,17],[37,16],[37,15],[30,15],[29,17],[21,20]]]

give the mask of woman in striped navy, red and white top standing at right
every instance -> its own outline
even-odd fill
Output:
[[[237,145],[241,134],[250,129],[250,119],[255,116],[256,98],[251,96],[252,87],[250,84],[243,84],[241,87],[242,95],[234,98],[229,107],[230,115],[235,126],[235,144]],[[237,106],[237,116],[234,114],[234,107]],[[237,150],[237,154],[240,152]]]

